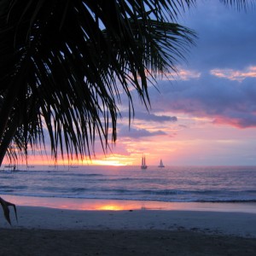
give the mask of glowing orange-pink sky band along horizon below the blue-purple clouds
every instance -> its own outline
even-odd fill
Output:
[[[235,123],[235,119],[221,119],[221,117],[212,119],[180,115],[178,119],[180,123],[174,123],[169,128],[169,123],[160,123],[161,126],[157,129],[165,131],[164,136],[119,137],[119,141],[109,154],[102,154],[101,148],[96,148],[96,155],[92,155],[91,158],[67,160],[67,155],[64,155],[64,160],[60,157],[57,163],[46,155],[29,155],[27,165],[64,166],[65,168],[72,166],[140,166],[143,154],[146,156],[146,164],[149,167],[158,166],[160,159],[163,160],[165,166],[227,165],[233,163],[233,158],[242,158],[242,160],[247,158],[248,163],[253,165],[254,162],[250,160],[247,152],[254,150],[254,127],[237,129],[241,128],[239,119]],[[231,121],[233,121],[232,124]],[[143,129],[153,131],[153,125],[150,122],[148,126],[138,125],[144,127]],[[244,147],[243,156],[241,147]],[[224,158],[219,160],[219,154],[216,152],[220,150],[222,150],[220,155]],[[7,165],[9,165],[9,160],[6,158],[0,169]],[[19,160],[18,166],[23,165],[26,166],[26,160]]]

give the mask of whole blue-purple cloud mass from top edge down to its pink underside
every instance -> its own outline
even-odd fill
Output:
[[[186,55],[189,67],[179,66],[179,77],[167,73],[158,81],[159,91],[149,86],[154,114],[146,115],[136,102],[135,119],[160,123],[177,117],[178,125],[189,126],[178,117],[185,114],[216,125],[256,127],[255,17],[252,9],[200,1],[180,22],[198,36]]]

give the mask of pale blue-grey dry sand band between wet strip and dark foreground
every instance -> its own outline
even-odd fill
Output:
[[[256,214],[189,210],[67,210],[49,207],[18,207],[18,223],[10,207],[5,229],[36,230],[168,230],[198,231],[213,235],[256,238]]]

